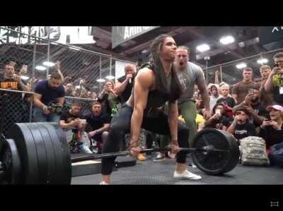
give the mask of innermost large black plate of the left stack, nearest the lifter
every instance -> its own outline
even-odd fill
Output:
[[[57,137],[59,138],[59,142],[61,143],[63,157],[64,157],[64,172],[67,178],[70,179],[69,183],[71,183],[71,154],[69,149],[69,143],[67,143],[67,138],[62,130],[62,128],[59,126],[58,123],[51,123],[52,126],[54,126]]]

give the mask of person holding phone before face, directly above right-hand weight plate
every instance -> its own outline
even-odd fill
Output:
[[[219,130],[226,131],[233,119],[229,118],[229,116],[226,116],[224,114],[224,104],[216,104],[212,109],[212,116],[209,118],[209,120],[204,122],[204,126],[206,128],[216,128]]]

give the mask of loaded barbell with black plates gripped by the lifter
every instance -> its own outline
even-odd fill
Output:
[[[57,123],[14,123],[6,137],[0,137],[0,183],[6,184],[70,184],[71,163],[129,155],[129,151],[71,158],[69,144]],[[159,152],[169,148],[146,149]],[[236,140],[225,131],[204,129],[195,136],[192,160],[210,175],[224,174],[236,164],[240,151]]]

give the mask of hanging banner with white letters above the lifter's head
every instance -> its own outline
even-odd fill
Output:
[[[154,30],[159,26],[113,26],[112,27],[112,49],[119,44],[132,40],[134,37],[143,35],[146,32]]]

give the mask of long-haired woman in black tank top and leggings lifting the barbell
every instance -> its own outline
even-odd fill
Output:
[[[177,100],[182,88],[173,68],[176,44],[170,35],[160,35],[151,44],[151,59],[139,69],[134,80],[134,88],[129,100],[113,117],[108,140],[103,145],[103,153],[117,152],[125,133],[131,133],[129,150],[133,157],[140,152],[138,138],[141,128],[162,135],[171,135],[171,152],[176,155],[175,179],[202,179],[187,171],[187,152],[180,147],[189,147],[189,130],[178,122]],[[158,110],[169,101],[168,115]],[[116,157],[103,158],[100,184],[110,183],[110,174]]]

